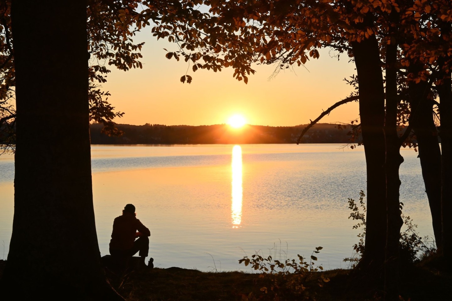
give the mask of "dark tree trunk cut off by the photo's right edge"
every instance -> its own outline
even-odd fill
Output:
[[[441,213],[443,255],[447,264],[452,263],[452,82],[451,73],[445,76],[444,83],[438,86],[441,137]]]

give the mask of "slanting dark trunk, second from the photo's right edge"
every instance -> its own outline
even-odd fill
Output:
[[[413,63],[410,72],[420,71]],[[441,238],[441,149],[438,131],[433,120],[433,101],[428,82],[410,83],[409,102],[411,107],[410,124],[419,148],[419,161],[424,178],[430,212],[432,214],[433,234],[438,250],[442,248]]]

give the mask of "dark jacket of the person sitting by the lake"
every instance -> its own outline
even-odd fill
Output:
[[[133,241],[135,241],[137,231],[141,232],[142,236],[151,236],[149,229],[135,217],[135,213],[124,212],[113,221],[110,249],[131,249],[133,247]]]

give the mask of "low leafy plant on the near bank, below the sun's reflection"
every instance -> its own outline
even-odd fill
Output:
[[[254,254],[249,258],[244,256],[239,264],[251,265],[255,271],[259,271],[260,288],[257,295],[252,292],[243,296],[243,300],[306,300],[309,292],[306,290],[307,283],[317,283],[320,287],[330,279],[323,274],[320,278],[312,278],[312,273],[323,270],[323,266],[316,265],[317,257],[322,247],[316,247],[309,259],[297,255],[298,259],[285,259],[284,261],[273,259],[271,255],[267,258]],[[311,281],[311,282],[310,282]]]

